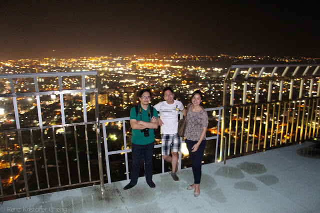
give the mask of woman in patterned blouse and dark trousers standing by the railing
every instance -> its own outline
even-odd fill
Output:
[[[187,112],[185,128],[185,143],[189,150],[191,159],[192,172],[194,183],[188,186],[187,190],[194,189],[194,197],[200,195],[200,180],[201,180],[201,162],[205,147],[205,132],[208,126],[207,112],[200,106],[202,102],[202,93],[196,90],[192,94],[191,106]]]

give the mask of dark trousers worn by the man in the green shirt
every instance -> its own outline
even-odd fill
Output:
[[[152,157],[154,142],[146,145],[132,143],[132,168],[130,184],[136,185],[139,177],[140,164],[144,159],[144,176],[146,181],[152,181]]]

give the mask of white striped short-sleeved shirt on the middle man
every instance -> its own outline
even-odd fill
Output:
[[[163,124],[161,133],[164,135],[173,135],[178,131],[178,112],[184,109],[181,101],[173,100],[173,104],[161,101],[153,106],[156,111],[160,112],[160,119]]]

